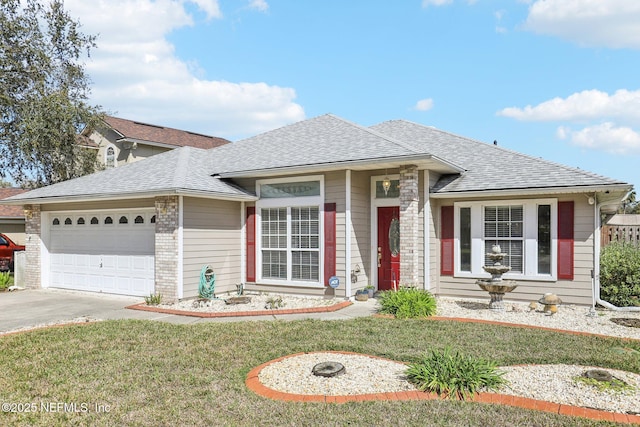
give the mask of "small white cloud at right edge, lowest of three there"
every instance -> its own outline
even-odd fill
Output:
[[[559,127],[556,136],[569,139],[578,147],[603,150],[616,155],[640,154],[640,134],[630,127],[606,122],[579,131]]]

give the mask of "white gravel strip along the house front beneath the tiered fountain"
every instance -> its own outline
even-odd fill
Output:
[[[528,303],[505,302],[505,311],[489,309],[489,297],[486,300],[472,300],[450,297],[437,297],[437,315],[442,317],[464,317],[472,319],[494,320],[498,322],[522,325],[543,326],[546,328],[589,332],[621,338],[640,339],[640,328],[621,326],[611,318],[640,319],[640,312],[596,310],[590,315],[590,307],[560,305],[553,315],[544,313],[544,306],[537,304],[535,310]]]

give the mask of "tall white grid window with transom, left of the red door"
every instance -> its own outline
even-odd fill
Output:
[[[263,281],[299,284],[322,281],[323,183],[321,177],[304,178],[257,183],[259,274]]]

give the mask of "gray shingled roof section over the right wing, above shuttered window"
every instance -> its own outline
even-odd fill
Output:
[[[435,193],[625,184],[405,120],[383,122],[372,129],[402,140],[423,153],[455,160],[466,169],[461,174],[442,176],[432,190]]]

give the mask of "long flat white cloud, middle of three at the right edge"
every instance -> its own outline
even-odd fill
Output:
[[[523,121],[576,121],[609,117],[640,123],[640,90],[620,89],[613,95],[595,89],[585,90],[536,106],[505,108],[497,114]]]

